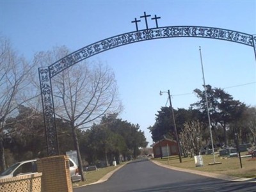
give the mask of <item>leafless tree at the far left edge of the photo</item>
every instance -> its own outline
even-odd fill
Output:
[[[15,115],[17,108],[27,102],[24,90],[29,86],[27,77],[33,67],[13,51],[10,41],[1,36],[0,60],[0,161],[1,169],[6,168],[3,139],[6,118]]]

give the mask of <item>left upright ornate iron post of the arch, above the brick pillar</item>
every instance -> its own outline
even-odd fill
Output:
[[[42,107],[44,113],[45,138],[48,156],[59,155],[58,136],[54,113],[51,77],[48,67],[38,68]]]

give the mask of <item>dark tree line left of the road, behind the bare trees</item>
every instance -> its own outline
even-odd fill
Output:
[[[15,161],[47,156],[44,116],[26,106],[18,108],[19,114],[6,120],[4,147],[7,165]],[[117,118],[113,113],[102,116],[99,124],[90,129],[76,129],[83,161],[88,164],[111,165],[140,155],[140,147],[147,147],[140,126]],[[76,150],[70,123],[56,118],[60,154]]]

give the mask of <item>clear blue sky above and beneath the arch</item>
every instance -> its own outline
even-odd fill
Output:
[[[28,60],[38,51],[66,45],[71,51],[104,38],[136,30],[131,23],[143,12],[161,17],[163,26],[209,26],[256,34],[256,1],[4,1],[1,35]],[[154,22],[148,22],[153,28]],[[141,27],[142,28],[142,27]],[[256,106],[256,61],[252,47],[204,38],[166,38],[125,45],[90,60],[113,68],[124,112],[120,118],[139,124],[152,143],[147,127],[166,105],[170,90],[173,108],[186,108],[205,83],[245,104]],[[243,86],[238,86],[245,84]],[[232,87],[232,88],[230,88]],[[189,94],[186,94],[189,93]],[[181,94],[181,95],[180,95]]]

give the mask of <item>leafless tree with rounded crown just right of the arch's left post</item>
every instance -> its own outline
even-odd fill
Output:
[[[40,65],[51,65],[67,54],[66,47],[57,47],[53,52],[40,52],[36,58]],[[120,112],[115,75],[100,61],[77,63],[52,78],[52,92],[56,116],[72,127],[79,172],[85,180],[76,130],[92,126],[106,113]]]

